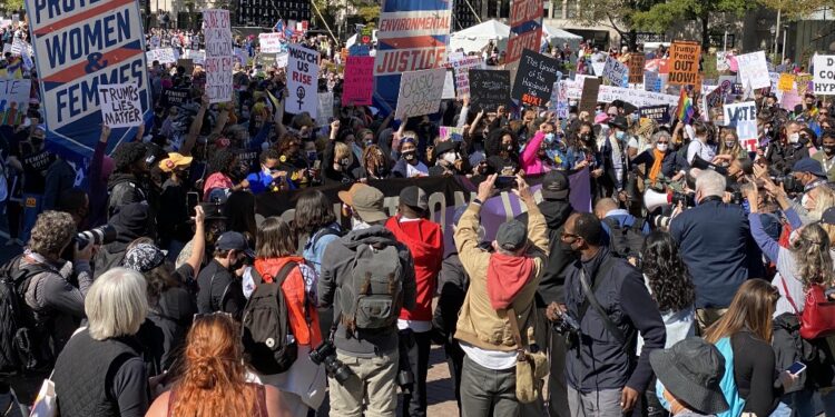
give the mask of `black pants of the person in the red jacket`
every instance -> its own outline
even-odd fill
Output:
[[[414,377],[411,393],[403,394],[402,416],[425,417],[426,373],[429,371],[429,353],[432,348],[432,336],[430,331],[414,332],[412,329],[400,330],[399,336],[400,370],[404,370],[407,366]]]

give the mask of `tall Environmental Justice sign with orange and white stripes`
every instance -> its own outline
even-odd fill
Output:
[[[374,93],[384,111],[397,103],[401,75],[443,67],[452,1],[383,0],[374,61]]]

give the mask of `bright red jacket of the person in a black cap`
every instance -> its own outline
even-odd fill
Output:
[[[414,281],[418,287],[415,308],[400,310],[400,318],[431,321],[432,297],[443,261],[443,230],[430,220],[400,221],[400,216],[390,218],[385,228],[409,248],[414,259]]]

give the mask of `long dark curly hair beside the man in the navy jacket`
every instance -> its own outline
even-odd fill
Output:
[[[647,236],[641,262],[659,311],[680,311],[692,306],[696,288],[678,246],[668,232],[656,230]]]

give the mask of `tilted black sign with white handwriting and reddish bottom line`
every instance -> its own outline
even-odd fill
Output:
[[[512,97],[522,105],[544,107],[557,82],[557,66],[554,58],[525,49],[519,61]]]

